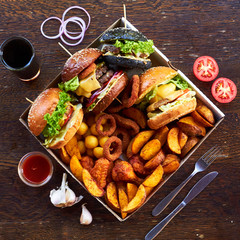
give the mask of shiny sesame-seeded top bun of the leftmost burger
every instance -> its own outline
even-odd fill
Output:
[[[32,104],[28,113],[28,126],[31,132],[38,136],[47,125],[44,115],[54,112],[59,101],[59,88],[49,88],[43,91]]]

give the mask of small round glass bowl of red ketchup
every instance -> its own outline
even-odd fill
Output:
[[[18,175],[28,186],[40,187],[51,179],[52,174],[52,161],[41,152],[29,152],[19,161]]]

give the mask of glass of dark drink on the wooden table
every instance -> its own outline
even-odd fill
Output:
[[[31,42],[20,36],[11,37],[1,45],[3,65],[22,81],[31,81],[40,74],[39,62]]]

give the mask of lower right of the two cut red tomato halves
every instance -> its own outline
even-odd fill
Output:
[[[237,87],[228,78],[218,78],[212,85],[212,95],[220,103],[229,103],[237,95]]]

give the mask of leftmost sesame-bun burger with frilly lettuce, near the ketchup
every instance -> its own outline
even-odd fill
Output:
[[[83,119],[82,104],[73,105],[71,96],[59,88],[43,91],[28,113],[28,126],[42,135],[47,148],[58,149],[75,135]]]

